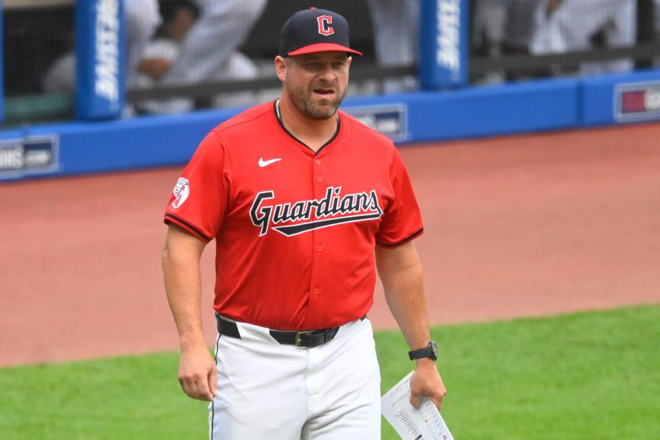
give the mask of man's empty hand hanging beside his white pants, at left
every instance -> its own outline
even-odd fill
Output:
[[[179,384],[188,397],[213,401],[217,382],[215,362],[206,346],[196,345],[181,351]]]

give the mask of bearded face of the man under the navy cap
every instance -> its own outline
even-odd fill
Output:
[[[287,60],[289,99],[309,118],[332,118],[346,96],[351,58],[345,52],[317,52]]]

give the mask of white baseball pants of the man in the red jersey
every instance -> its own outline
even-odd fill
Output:
[[[380,369],[369,320],[343,325],[314,348],[236,325],[241,339],[217,339],[211,440],[380,439]]]

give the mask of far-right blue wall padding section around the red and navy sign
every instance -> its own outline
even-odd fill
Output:
[[[648,81],[660,82],[660,70],[636,72],[632,75],[598,76],[584,80],[582,85],[582,101],[584,102],[582,124],[591,126],[617,122],[615,120],[615,87]]]

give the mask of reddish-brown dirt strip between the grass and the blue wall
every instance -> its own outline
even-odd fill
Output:
[[[660,124],[401,154],[432,322],[660,303]],[[0,185],[0,366],[177,348],[159,259],[179,169]],[[380,287],[369,316],[395,325]]]

